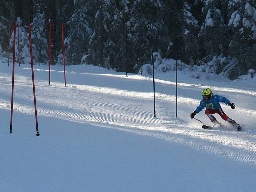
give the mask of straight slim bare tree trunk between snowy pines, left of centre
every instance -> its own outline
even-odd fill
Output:
[[[99,62],[103,67],[103,12],[102,12],[102,0],[99,0]]]

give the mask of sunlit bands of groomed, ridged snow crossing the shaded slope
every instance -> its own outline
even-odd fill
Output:
[[[16,112],[35,113],[33,95],[31,94],[33,93],[31,85],[32,78],[30,77],[31,69],[22,69],[25,70],[28,76],[15,75],[14,116]],[[36,73],[45,73],[47,70],[36,69],[35,71]],[[3,95],[11,95],[10,85],[12,84],[12,76],[5,73],[0,74],[0,84],[5,85],[1,87],[0,92]],[[92,74],[80,73],[79,75],[86,76]],[[127,80],[127,78],[121,75],[100,74],[100,76],[102,78],[107,76]],[[141,76],[130,76],[127,81],[138,79],[144,84],[151,83],[152,81],[152,78]],[[82,122],[85,125],[106,123],[106,126],[109,128],[154,136],[169,142],[188,146],[189,148],[206,151],[213,155],[223,156],[239,163],[256,165],[255,135],[247,132],[235,132],[234,130],[211,131],[191,128],[186,120],[171,117],[170,114],[174,114],[173,110],[176,101],[174,95],[156,92],[156,100],[161,105],[156,104],[157,118],[153,118],[152,92],[127,91],[108,86],[87,85],[86,82],[85,84],[68,83],[67,87],[64,87],[63,83],[53,81],[51,82],[51,86],[49,86],[47,81],[43,79],[36,79],[35,83],[37,114],[39,116],[68,119],[70,121]],[[156,79],[156,83],[159,84],[158,86],[176,85],[175,82],[159,79]],[[181,86],[182,89],[187,89],[188,91],[194,90],[196,92],[201,91],[202,87],[204,87],[186,83],[179,83],[178,86]],[[256,96],[256,92],[250,90],[216,86],[212,86],[212,89],[230,93],[236,92],[237,94],[246,94],[252,97]],[[130,99],[125,100],[126,97]],[[136,100],[136,102],[133,103],[132,99]],[[24,100],[26,102],[22,102]],[[108,102],[106,102],[107,100]],[[186,108],[191,103],[196,107],[199,101],[185,96],[179,96],[178,98],[179,106],[182,106],[180,108]],[[29,103],[29,105],[24,105],[23,103]],[[0,98],[0,108],[10,110],[10,106],[10,100]],[[162,108],[161,106],[167,107]],[[239,114],[256,116],[256,110],[246,108],[238,109],[237,113]],[[182,113],[188,114],[189,112],[183,111]],[[118,128],[117,125],[123,128]],[[126,129],[125,127],[132,129]]]

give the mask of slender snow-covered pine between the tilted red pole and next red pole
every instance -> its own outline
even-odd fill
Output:
[[[41,13],[39,4],[34,6],[34,19],[31,23],[31,38],[35,45],[33,47],[33,57],[36,62],[46,63],[48,60],[47,40],[45,37],[44,13]]]

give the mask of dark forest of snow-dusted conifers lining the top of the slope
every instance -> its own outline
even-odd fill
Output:
[[[150,61],[152,43],[163,58],[175,58],[177,38],[181,61],[214,60],[214,72],[233,79],[256,69],[255,5],[254,0],[0,0],[0,52],[8,52],[9,22],[12,28],[19,22],[26,32],[31,21],[35,60],[46,63],[51,21],[52,64],[61,64],[64,22],[68,65],[125,71],[127,54],[128,72],[138,72],[140,61]]]

